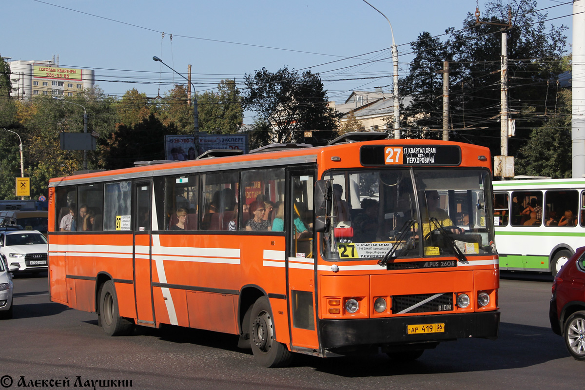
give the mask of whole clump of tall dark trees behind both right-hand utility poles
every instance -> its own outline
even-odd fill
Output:
[[[482,24],[468,13],[463,29],[450,28],[450,38],[441,41],[424,32],[411,44],[417,53],[410,74],[401,82],[401,95],[412,98],[402,120],[411,137],[439,138],[442,131],[442,63],[449,60],[449,123],[455,131],[450,140],[490,147],[500,154],[500,58],[501,25],[507,23],[508,5],[512,28],[507,29],[508,108],[516,120],[517,137],[508,143],[509,154],[516,154],[553,109],[556,80],[566,70],[566,27],[546,26],[545,12],[536,12],[535,0],[494,0],[480,8]],[[532,111],[528,108],[532,107]],[[532,122],[530,122],[532,121]],[[541,123],[542,119],[541,119]]]

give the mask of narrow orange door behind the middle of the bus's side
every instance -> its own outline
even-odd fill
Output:
[[[134,294],[136,297],[136,317],[139,325],[154,326],[152,303],[152,261],[150,261],[150,241],[152,230],[152,210],[150,182],[136,182],[134,225]]]

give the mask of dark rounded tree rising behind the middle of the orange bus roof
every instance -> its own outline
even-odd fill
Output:
[[[339,113],[327,105],[326,91],[318,75],[299,75],[287,67],[270,73],[266,68],[245,76],[242,95],[245,109],[252,109],[274,130],[276,143],[304,141],[312,131],[314,143],[325,143],[338,135]]]

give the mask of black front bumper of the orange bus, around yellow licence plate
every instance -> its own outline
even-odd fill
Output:
[[[407,334],[408,325],[445,324],[444,332]],[[319,320],[321,345],[326,350],[352,346],[424,344],[467,337],[496,339],[500,312],[479,312],[370,319]]]

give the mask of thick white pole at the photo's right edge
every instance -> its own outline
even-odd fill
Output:
[[[573,1],[573,109],[571,147],[573,178],[585,175],[585,1]]]

